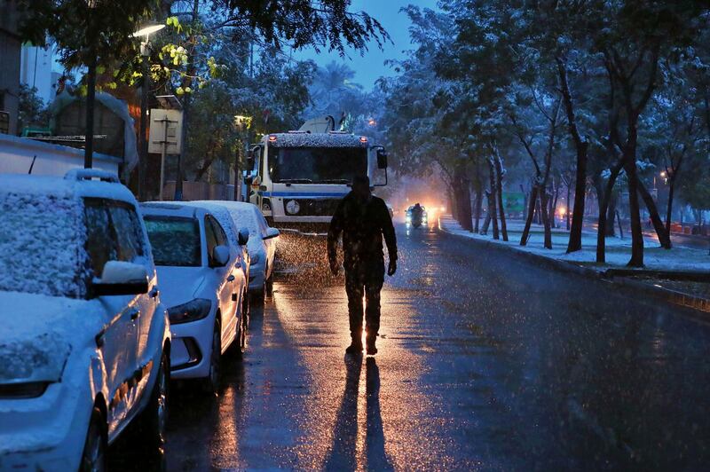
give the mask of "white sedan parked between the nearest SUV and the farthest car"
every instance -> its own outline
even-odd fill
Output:
[[[169,307],[171,375],[201,379],[207,391],[217,393],[222,355],[235,340],[243,342],[246,330],[241,248],[206,208],[154,202],[144,203],[142,211]]]

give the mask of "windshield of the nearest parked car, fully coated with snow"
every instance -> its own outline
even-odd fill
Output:
[[[66,197],[0,194],[0,290],[83,296],[80,208]]]

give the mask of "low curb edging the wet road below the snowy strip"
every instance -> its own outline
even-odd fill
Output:
[[[500,244],[497,242],[493,242],[493,240],[478,240],[476,238],[468,238],[462,234],[457,234],[455,232],[452,232],[446,228],[445,224],[442,224],[441,219],[439,219],[438,222],[438,227],[442,232],[446,232],[446,234],[450,234],[454,237],[458,237],[464,240],[469,240],[473,244],[477,244],[479,246],[484,246],[484,247],[491,247],[491,248],[497,248],[501,250],[507,250],[511,253],[516,253],[517,256],[522,256],[522,258],[534,262],[536,264],[541,264],[543,266],[547,266],[550,269],[554,269],[557,271],[565,271],[565,272],[570,272],[574,273],[577,275],[580,275],[581,277],[586,277],[588,279],[595,279],[595,280],[600,280],[600,281],[606,281],[611,284],[614,284],[618,287],[623,287],[626,288],[629,291],[634,291],[634,292],[643,292],[645,295],[652,296],[654,298],[659,298],[661,300],[664,300],[668,303],[673,303],[677,306],[681,306],[685,309],[688,309],[690,311],[690,316],[693,318],[700,318],[704,320],[708,320],[708,314],[710,314],[710,300],[696,296],[696,295],[690,295],[686,294],[683,292],[679,292],[677,290],[672,290],[670,288],[664,288],[664,287],[659,287],[653,284],[641,282],[639,280],[632,280],[632,279],[619,279],[619,278],[614,278],[614,275],[620,276],[622,273],[625,271],[623,270],[607,270],[607,271],[595,271],[594,269],[589,269],[588,267],[584,267],[578,264],[570,263],[567,261],[560,261],[557,259],[553,259],[551,257],[546,257],[546,256],[540,256],[538,254],[534,254],[532,252],[527,252],[518,249],[515,246],[510,246],[508,244]],[[642,275],[642,273],[639,273],[638,271],[635,274],[632,275]],[[701,312],[702,314],[698,313]],[[694,314],[693,314],[694,313]],[[699,315],[699,317],[698,317]]]

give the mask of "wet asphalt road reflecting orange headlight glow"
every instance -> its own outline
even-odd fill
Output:
[[[398,226],[380,353],[348,358],[323,241],[282,242],[317,264],[282,265],[219,397],[173,390],[170,470],[710,463],[710,327],[673,306]]]

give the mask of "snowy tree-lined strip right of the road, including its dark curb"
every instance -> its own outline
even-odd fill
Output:
[[[509,241],[493,240],[493,231],[483,236],[467,232],[452,216],[439,217],[439,228],[457,236],[477,241],[481,245],[495,245],[517,251],[520,256],[537,263],[548,264],[556,270],[572,271],[595,279],[609,279],[615,285],[642,291],[696,312],[703,312],[707,320],[710,313],[710,255],[706,250],[692,248],[659,248],[658,242],[644,239],[642,269],[629,269],[630,238],[606,239],[606,264],[596,264],[596,232],[582,232],[582,250],[565,254],[569,232],[552,230],[552,249],[543,247],[543,228],[533,224],[526,246],[520,246],[524,223],[520,220],[508,224]],[[692,281],[694,280],[694,281]]]

